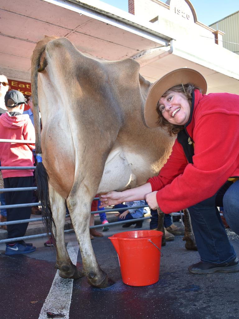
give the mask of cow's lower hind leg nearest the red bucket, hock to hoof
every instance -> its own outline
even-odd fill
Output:
[[[79,201],[79,198],[83,198],[84,201]],[[79,242],[84,274],[87,276],[88,283],[98,288],[107,288],[114,282],[100,269],[91,245],[89,228],[91,201],[92,197],[89,197],[87,191],[84,193],[82,189],[78,189],[75,194],[73,192],[69,194],[67,206]]]

